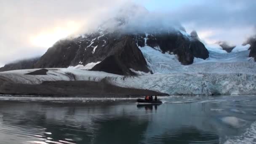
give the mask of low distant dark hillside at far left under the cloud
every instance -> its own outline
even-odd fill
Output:
[[[34,64],[40,59],[40,57],[21,60],[17,62],[13,62],[11,64],[5,64],[4,67],[0,68],[0,72],[16,70],[16,69],[33,69]]]

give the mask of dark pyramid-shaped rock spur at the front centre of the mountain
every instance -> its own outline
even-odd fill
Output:
[[[135,75],[129,68],[136,71],[149,72],[147,62],[131,36],[121,38],[110,53],[112,55],[91,70],[102,70],[118,75]]]

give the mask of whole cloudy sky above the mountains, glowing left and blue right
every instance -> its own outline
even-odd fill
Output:
[[[179,21],[205,43],[238,45],[256,33],[256,0],[0,0],[0,67],[41,56],[57,40],[88,32],[127,5],[146,8],[154,16],[148,18]]]

